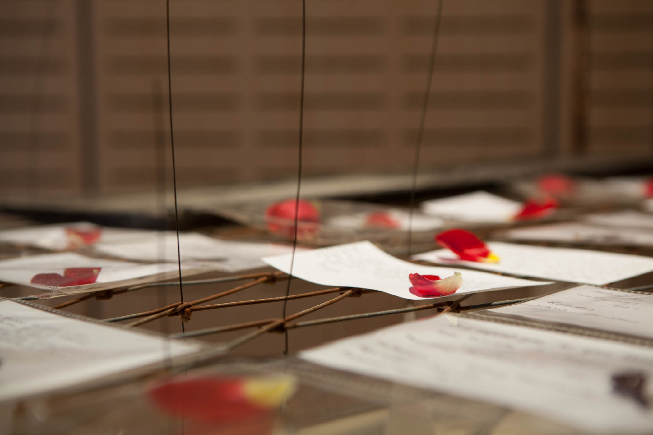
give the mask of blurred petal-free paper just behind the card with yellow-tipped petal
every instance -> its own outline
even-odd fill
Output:
[[[566,222],[515,228],[505,232],[505,236],[515,240],[653,246],[653,232]]]

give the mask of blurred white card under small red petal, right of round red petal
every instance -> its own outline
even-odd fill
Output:
[[[421,213],[413,213],[412,221],[409,213],[404,210],[390,209],[382,213],[387,213],[389,220],[396,225],[394,228],[390,227],[392,230],[408,230],[409,228],[412,228],[412,230],[416,232],[432,231],[438,230],[444,224],[444,221],[440,218],[422,215]],[[355,215],[334,216],[327,221],[327,224],[340,228],[383,228],[382,226],[379,227],[369,224],[368,218],[370,217],[370,214],[371,213],[357,213]]]

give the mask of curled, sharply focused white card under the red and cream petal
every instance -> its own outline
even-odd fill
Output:
[[[290,272],[290,255],[266,257],[263,261],[280,271]],[[410,273],[439,275],[441,278],[446,278],[453,275],[455,271],[457,269],[449,267],[404,262],[383,252],[369,241],[299,252],[295,254],[293,263],[293,276],[303,280],[325,286],[380,290],[405,299],[424,299],[409,292]],[[463,283],[456,294],[550,284],[477,271],[460,272]]]

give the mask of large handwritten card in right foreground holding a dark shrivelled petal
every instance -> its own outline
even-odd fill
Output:
[[[649,433],[653,413],[613,393],[615,373],[653,378],[653,349],[438,316],[345,338],[300,357],[452,395],[485,400],[591,432]]]

